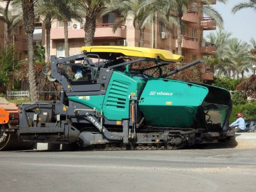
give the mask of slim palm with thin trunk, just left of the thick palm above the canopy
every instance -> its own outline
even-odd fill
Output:
[[[54,5],[51,9],[55,11],[58,20],[63,21],[64,26],[64,47],[65,57],[69,56],[69,42],[68,42],[68,22],[72,19],[82,22],[81,13],[79,12],[79,1],[77,0],[54,0]]]

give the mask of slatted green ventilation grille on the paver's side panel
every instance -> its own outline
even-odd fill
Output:
[[[113,81],[108,94],[108,99],[106,100],[106,107],[119,109],[125,108],[129,86],[130,85],[125,82]]]

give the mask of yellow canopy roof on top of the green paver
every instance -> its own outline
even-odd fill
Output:
[[[159,58],[162,61],[172,62],[181,61],[181,59],[183,59],[183,56],[174,55],[170,51],[135,46],[83,46],[81,51],[99,55],[102,59],[117,58],[121,56],[146,57],[150,59]]]

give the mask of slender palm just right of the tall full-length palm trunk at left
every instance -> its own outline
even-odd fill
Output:
[[[51,26],[57,17],[53,7],[55,7],[55,0],[40,0],[35,6],[36,15],[42,19],[46,30],[46,63],[50,62]]]

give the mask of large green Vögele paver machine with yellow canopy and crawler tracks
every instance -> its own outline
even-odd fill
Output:
[[[52,56],[49,79],[61,85],[60,99],[22,104],[18,137],[104,149],[172,149],[232,137],[228,90],[166,78],[201,61],[159,77],[145,73],[182,59],[129,46],[86,46],[79,55]],[[138,63],[146,67],[135,69]]]

